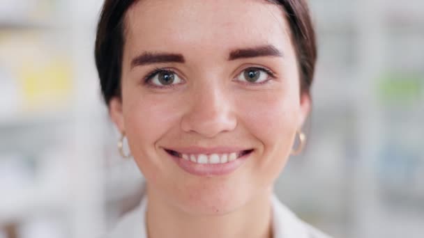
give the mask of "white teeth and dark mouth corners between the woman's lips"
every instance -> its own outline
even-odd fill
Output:
[[[213,153],[213,154],[185,154],[181,152],[177,152],[175,150],[165,151],[172,155],[173,157],[179,157],[181,159],[185,159],[187,161],[192,161],[196,164],[226,164],[232,162],[236,159],[244,157],[248,154],[251,154],[254,150],[241,150],[238,152],[229,152],[229,153]]]

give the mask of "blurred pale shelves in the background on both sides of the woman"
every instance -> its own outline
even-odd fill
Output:
[[[309,143],[276,192],[334,237],[424,237],[424,1],[310,3]],[[137,204],[93,61],[101,4],[1,0],[0,238],[92,238]]]

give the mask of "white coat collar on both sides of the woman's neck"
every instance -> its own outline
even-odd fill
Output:
[[[271,196],[273,211],[273,238],[330,238],[328,235],[298,219],[273,194]],[[147,238],[146,235],[147,197],[144,195],[139,205],[125,214],[114,228],[102,238]]]

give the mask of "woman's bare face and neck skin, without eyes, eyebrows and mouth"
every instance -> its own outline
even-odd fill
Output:
[[[273,183],[310,111],[282,8],[254,0],[145,0],[125,23],[122,97],[109,112],[146,177],[149,237],[271,237]],[[264,45],[282,56],[228,60],[234,49]],[[185,62],[132,67],[146,51],[181,54]],[[275,77],[243,81],[250,67]],[[144,84],[156,68],[181,80],[171,88]],[[233,173],[208,177],[186,173],[163,149],[228,145],[254,152]]]

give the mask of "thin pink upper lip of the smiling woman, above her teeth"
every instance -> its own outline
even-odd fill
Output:
[[[181,148],[164,148],[165,150],[172,150],[181,154],[229,154],[233,152],[242,152],[245,150],[253,150],[252,148],[241,148],[241,147],[181,147]]]

